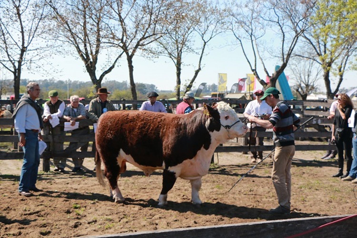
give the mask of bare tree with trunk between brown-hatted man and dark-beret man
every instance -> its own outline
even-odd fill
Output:
[[[150,53],[149,45],[167,32],[167,10],[171,2],[166,0],[121,1],[112,0],[110,43],[119,47],[126,56],[132,98],[137,99],[134,82],[133,58],[138,51]],[[136,105],[133,107],[136,109]]]

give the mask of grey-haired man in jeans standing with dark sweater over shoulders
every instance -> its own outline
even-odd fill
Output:
[[[26,90],[27,94],[17,102],[12,117],[15,118],[15,130],[19,133],[19,146],[24,150],[19,193],[29,197],[32,195],[30,191],[41,191],[36,188],[36,181],[40,164],[39,140],[42,140],[43,123],[42,108],[36,102],[36,98],[40,95],[39,84],[29,82]]]

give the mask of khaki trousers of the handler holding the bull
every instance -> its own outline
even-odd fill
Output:
[[[276,146],[274,154],[273,181],[278,202],[281,206],[290,209],[291,197],[291,162],[295,154],[295,146]]]

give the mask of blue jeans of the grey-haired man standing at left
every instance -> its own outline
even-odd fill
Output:
[[[40,165],[39,155],[39,134],[37,132],[26,130],[24,150],[24,163],[21,168],[19,192],[29,192],[35,188],[37,181],[37,172]],[[20,138],[20,133],[19,133]]]

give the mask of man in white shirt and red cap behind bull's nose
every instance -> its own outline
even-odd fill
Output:
[[[247,104],[243,112],[243,116],[248,117],[252,115],[252,116],[263,118],[264,120],[268,119],[272,113],[272,108],[265,101],[260,100],[260,98],[264,94],[263,90],[258,89],[255,92],[253,92],[253,94],[255,94],[256,99],[250,101]],[[263,143],[264,137],[256,137],[255,135],[257,131],[265,131],[266,129],[256,123],[249,125],[248,128],[251,128],[252,130],[252,132],[250,132],[251,137],[249,138],[250,145],[260,145],[260,146],[264,145]],[[258,158],[258,162],[260,162],[263,159],[262,151],[258,151],[258,156],[257,156],[257,151],[252,150],[251,152],[252,152],[252,156],[251,156],[252,163],[257,162],[257,158]]]

